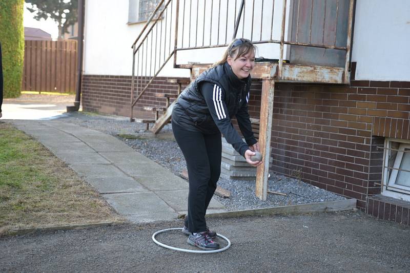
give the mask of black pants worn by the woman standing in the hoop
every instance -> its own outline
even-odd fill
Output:
[[[205,214],[221,173],[221,134],[187,131],[174,122],[172,131],[188,168],[188,217],[185,225],[192,233],[204,232],[207,230]]]

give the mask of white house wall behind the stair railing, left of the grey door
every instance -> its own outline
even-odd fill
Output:
[[[237,9],[241,0],[237,1]],[[176,2],[176,1],[175,1]],[[206,12],[203,13],[203,5],[206,4]],[[131,45],[142,27],[145,23],[138,24],[127,24],[128,21],[128,0],[118,0],[113,4],[110,0],[87,0],[86,1],[86,26],[85,26],[85,60],[84,60],[84,70],[85,74],[96,74],[96,75],[131,75],[132,73],[132,49]],[[188,39],[190,38],[191,46],[202,45],[202,37],[204,37],[204,44],[209,44],[210,39],[210,24],[211,24],[211,1],[210,0],[199,0],[198,2],[192,1],[193,6],[189,6],[190,1],[187,1],[185,7],[185,23],[183,24],[183,46],[188,45]],[[197,7],[199,3],[199,9]],[[221,17],[219,19],[218,28],[218,15],[216,5],[218,1],[213,1],[213,17],[212,17],[212,44],[216,44],[218,39],[218,29],[219,29],[219,44],[224,43],[225,39],[229,43],[233,34],[233,27],[235,22],[235,17],[233,11],[235,10],[234,1],[221,0]],[[227,7],[227,4],[229,6]],[[248,1],[247,3],[251,3]],[[254,32],[251,34],[250,23],[243,25],[240,24],[237,37],[241,37],[243,33],[244,38],[259,39],[260,38],[260,24],[261,18],[263,20],[262,24],[262,39],[270,39],[270,24],[271,24],[271,14],[272,14],[272,3],[271,1],[264,1],[263,13],[261,13],[261,0],[255,0],[255,16],[254,16]],[[290,1],[288,1],[288,6]],[[282,1],[275,1],[274,9],[274,30],[273,39],[280,38],[280,23],[281,23],[281,12],[282,12]],[[227,26],[227,16],[223,14],[228,12],[228,31],[226,32]],[[196,11],[198,16],[196,16]],[[288,9],[289,10],[289,9]],[[245,20],[251,22],[251,11],[252,7],[245,6]],[[180,13],[182,14],[182,5],[180,7]],[[173,13],[175,14],[175,5],[173,7]],[[189,33],[189,13],[192,14],[192,27],[191,34]],[[262,15],[261,15],[262,14]],[[288,13],[289,15],[289,13]],[[170,14],[168,15],[170,19]],[[205,17],[205,25],[203,33],[203,19]],[[289,16],[288,16],[289,17]],[[175,15],[174,15],[175,18]],[[168,20],[169,20],[168,19]],[[194,29],[196,24],[196,19],[198,19],[198,29]],[[162,24],[165,25],[166,17],[162,19]],[[180,22],[182,16],[180,17]],[[168,24],[169,21],[168,21]],[[286,24],[286,31],[287,31]],[[195,34],[197,36],[195,36]],[[203,35],[204,34],[204,35]],[[190,36],[191,35],[191,36]],[[172,37],[174,36],[174,29],[172,28]],[[178,29],[178,47],[182,46],[182,24]],[[227,37],[227,38],[226,38]],[[154,43],[155,44],[155,43]],[[159,44],[159,43],[158,43]],[[162,43],[163,44],[163,43]],[[169,36],[165,42],[165,46],[169,48]],[[171,49],[173,48],[173,39],[171,44]],[[177,54],[177,64],[187,64],[190,62],[203,62],[212,63],[222,56],[223,51],[226,48],[214,48],[214,49],[200,49],[200,50],[190,50],[190,51],[178,51]],[[145,49],[147,50],[147,49]],[[151,50],[148,48],[148,50]],[[277,44],[265,44],[258,45],[257,56],[263,56],[265,58],[279,58],[279,45]],[[286,52],[285,52],[286,56]],[[157,58],[159,56],[157,55]],[[284,57],[285,58],[285,57]],[[163,59],[163,54],[161,56]],[[189,77],[188,70],[173,69],[173,58],[167,63],[163,68],[159,76],[178,76],[178,77]],[[150,73],[150,59],[148,61],[139,62],[139,70],[147,70],[148,75],[153,74],[153,69]],[[147,69],[146,69],[147,67]]]

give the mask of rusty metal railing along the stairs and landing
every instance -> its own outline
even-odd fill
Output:
[[[281,2],[280,13],[275,13],[277,2]],[[249,38],[253,44],[279,44],[278,78],[282,75],[284,46],[302,46],[322,49],[334,49],[345,51],[344,82],[348,81],[348,66],[350,62],[352,18],[354,0],[336,0],[336,16],[333,43],[325,43],[326,14],[330,4],[324,3],[324,16],[322,24],[322,43],[312,43],[312,22],[315,14],[314,1],[311,0],[311,9],[302,10],[301,3],[309,3],[309,0],[161,0],[148,19],[141,33],[134,41],[133,48],[133,72],[131,83],[131,118],[132,108],[141,98],[154,78],[163,69],[166,63],[174,56],[173,67],[177,65],[177,52],[194,49],[208,49],[227,47],[231,39],[238,37]],[[290,10],[288,1],[293,6],[297,4],[297,12]],[[347,22],[347,38],[345,46],[336,43],[338,23],[339,1],[349,1]],[[329,1],[330,2],[330,1]],[[332,1],[331,3],[334,3]],[[289,5],[291,6],[291,5]],[[321,6],[320,6],[321,7]],[[174,11],[173,11],[174,8]],[[294,12],[293,12],[294,11]],[[296,24],[296,39],[285,39],[286,14],[296,13],[296,19],[292,17],[292,23]],[[320,12],[320,11],[319,11]],[[279,16],[278,14],[281,14]],[[303,14],[310,16],[310,28],[308,41],[299,39],[299,23]],[[275,18],[275,16],[279,16]],[[276,21],[280,20],[280,28],[275,31]],[[179,24],[180,22],[180,24]],[[232,24],[232,26],[230,26]],[[250,27],[249,27],[250,26]],[[275,38],[278,37],[278,38]],[[289,35],[288,35],[289,36]],[[149,66],[148,66],[149,63]],[[135,79],[135,77],[137,77]],[[137,90],[135,97],[134,90]]]

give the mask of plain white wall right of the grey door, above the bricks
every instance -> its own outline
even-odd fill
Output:
[[[410,80],[410,1],[356,2],[357,80]]]

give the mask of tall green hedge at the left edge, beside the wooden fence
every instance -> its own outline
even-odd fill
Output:
[[[24,0],[0,0],[0,41],[5,98],[18,97],[24,65]]]

